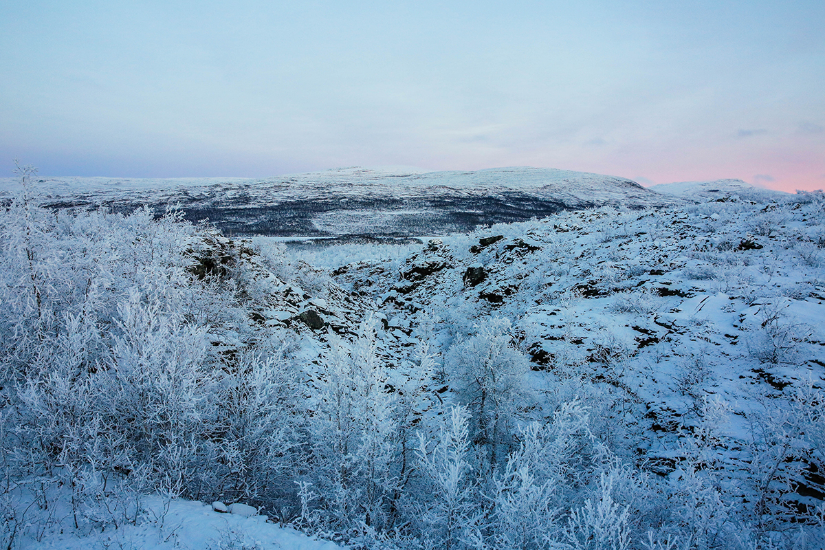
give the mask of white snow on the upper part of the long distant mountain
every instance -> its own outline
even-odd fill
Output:
[[[476,172],[385,171],[353,167],[271,178],[106,178],[37,177],[35,190],[46,199],[128,201],[135,204],[175,204],[199,196],[226,198],[248,195],[256,206],[290,200],[421,200],[456,197],[533,195],[565,203],[672,204],[672,198],[653,193],[625,178],[553,168],[507,167]],[[19,189],[17,178],[0,178],[0,193]],[[415,209],[410,214],[415,214]],[[323,223],[323,219],[319,220]]]

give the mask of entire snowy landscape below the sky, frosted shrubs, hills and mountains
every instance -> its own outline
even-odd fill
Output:
[[[823,548],[823,193],[324,174],[3,183],[3,548]]]

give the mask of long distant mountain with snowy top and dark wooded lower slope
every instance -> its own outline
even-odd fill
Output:
[[[266,180],[40,178],[53,207],[108,205],[209,219],[224,233],[282,237],[416,237],[542,218],[605,204],[631,209],[679,200],[615,176],[549,168],[415,172],[351,167]],[[10,179],[0,181],[6,194]]]

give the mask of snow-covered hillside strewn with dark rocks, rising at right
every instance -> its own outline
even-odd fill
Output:
[[[782,474],[784,489],[771,476],[793,452],[766,449],[805,407],[825,427],[825,200],[741,192],[497,225],[431,241],[397,269],[361,262],[336,278],[399,325],[436,317],[445,348],[506,317],[542,396],[533,407],[582,399],[603,441],[662,477],[684,475],[686,440],[712,431],[703,453],[719,487],[752,501],[765,482],[761,498],[810,510],[825,497],[825,440]]]

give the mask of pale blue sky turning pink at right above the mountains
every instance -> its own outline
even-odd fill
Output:
[[[0,176],[825,187],[822,0],[0,3]]]

